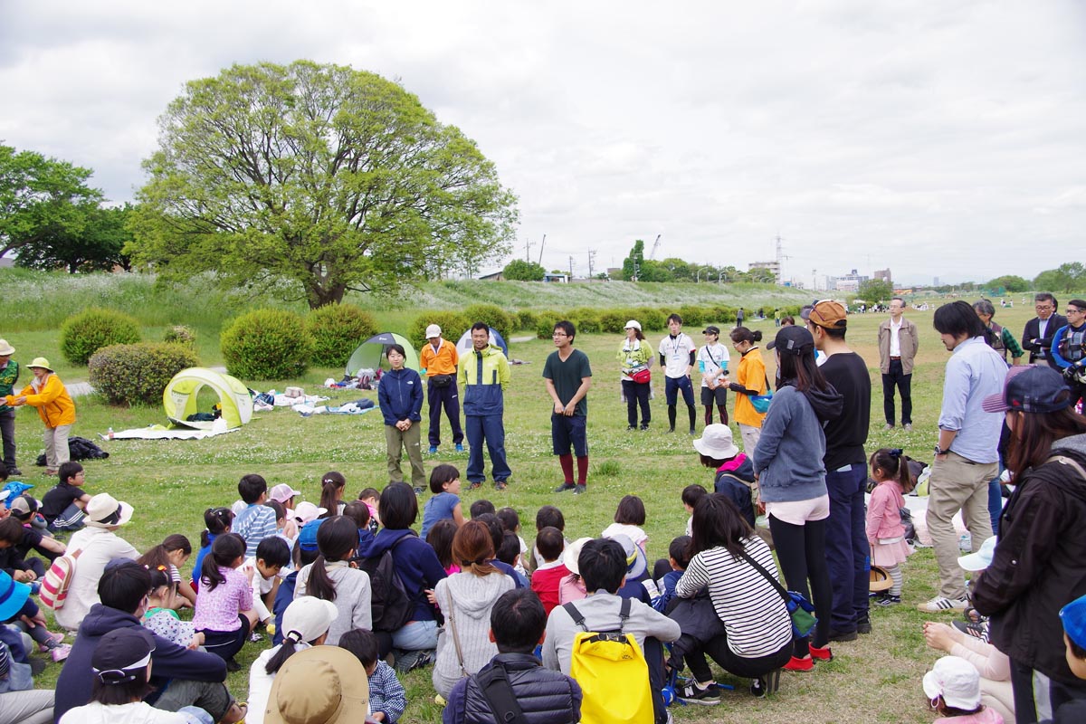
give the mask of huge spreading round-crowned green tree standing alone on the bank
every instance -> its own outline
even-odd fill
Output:
[[[319,307],[509,251],[516,196],[494,165],[372,73],[235,65],[188,82],[160,127],[129,251],[167,278],[285,280]]]

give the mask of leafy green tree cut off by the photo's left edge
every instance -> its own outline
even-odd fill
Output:
[[[87,185],[91,173],[0,144],[0,256],[34,255],[83,234],[102,201],[102,192]]]

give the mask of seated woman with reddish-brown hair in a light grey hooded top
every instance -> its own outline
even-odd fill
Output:
[[[453,536],[453,562],[459,573],[442,579],[433,595],[445,617],[438,636],[433,688],[449,698],[453,685],[475,674],[497,656],[490,639],[490,610],[498,597],[513,589],[513,579],[491,566],[494,543],[487,524],[469,520]]]

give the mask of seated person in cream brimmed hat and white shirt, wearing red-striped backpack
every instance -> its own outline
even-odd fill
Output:
[[[53,612],[58,625],[68,631],[79,627],[90,607],[99,602],[98,581],[106,563],[114,558],[139,558],[139,551],[116,534],[131,517],[132,507],[109,493],[90,498],[84,519],[86,526],[73,534],[68,543],[68,554],[80,552],[64,607]]]

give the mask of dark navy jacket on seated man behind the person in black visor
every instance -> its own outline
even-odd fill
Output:
[[[138,628],[139,625],[139,619],[131,613],[102,604],[90,607],[87,618],[79,624],[72,652],[56,679],[54,721],[59,722],[68,709],[81,707],[90,701],[90,687],[93,682],[90,657],[102,636],[116,628]],[[152,685],[161,685],[167,678],[190,682],[226,681],[226,661],[214,653],[191,651],[159,635],[154,637],[151,663]]]

